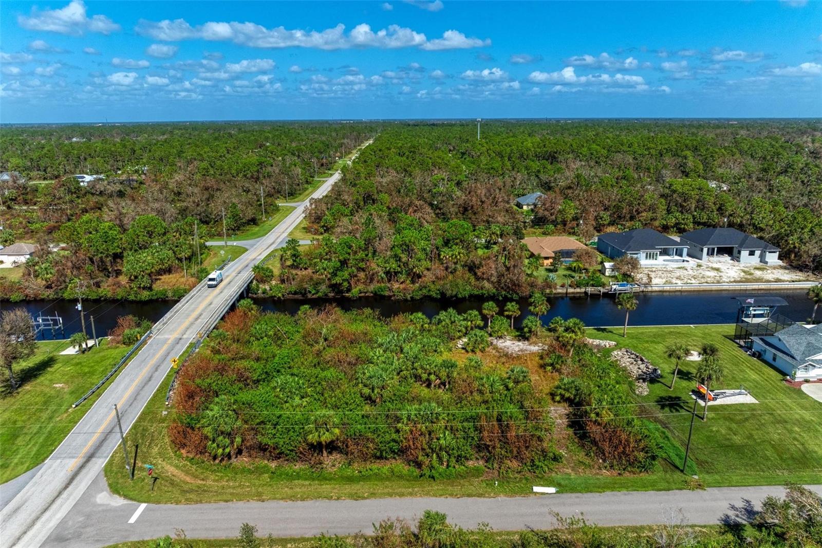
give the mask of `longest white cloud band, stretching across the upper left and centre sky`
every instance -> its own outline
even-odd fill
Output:
[[[210,21],[199,26],[191,26],[184,19],[170,21],[145,21],[141,19],[135,27],[136,33],[165,42],[187,39],[233,42],[251,48],[408,48],[422,49],[464,49],[491,44],[490,40],[467,38],[457,30],[448,30],[441,39],[428,41],[423,33],[397,25],[386,29],[372,30],[363,23],[355,26],[348,34],[345,26],[316,31],[289,30],[282,26],[268,29],[256,23]]]

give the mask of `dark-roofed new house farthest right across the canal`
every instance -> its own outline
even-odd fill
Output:
[[[779,248],[737,229],[691,230],[679,237],[688,246],[688,255],[700,261],[725,260],[782,264]]]

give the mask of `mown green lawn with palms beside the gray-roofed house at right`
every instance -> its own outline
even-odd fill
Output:
[[[640,401],[649,404],[655,414],[671,413],[656,418],[667,423],[683,446],[698,362],[683,360],[677,383],[669,390],[674,362],[664,355],[668,343],[681,341],[697,351],[704,342],[717,344],[726,374],[712,388],[744,385],[759,401],[709,406],[708,420],[696,421],[691,455],[707,485],[822,483],[822,403],[787,387],[781,372],[741,351],[728,338],[732,325],[629,327],[627,338],[621,334],[618,327],[589,330],[589,337],[617,341],[617,347],[639,352],[662,371],[663,377],[650,384],[649,395]]]

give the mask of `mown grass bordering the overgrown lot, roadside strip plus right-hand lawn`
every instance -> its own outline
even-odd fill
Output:
[[[663,357],[668,341],[691,346],[713,341],[727,365],[722,388],[745,384],[758,404],[712,406],[709,420],[697,420],[691,456],[700,479],[708,486],[775,485],[786,481],[822,483],[822,403],[788,388],[782,375],[742,353],[726,338],[732,326],[633,327],[628,338],[619,330],[591,330],[589,335],[617,341],[647,356],[663,370],[662,383],[652,383],[647,404],[638,407],[668,425],[685,444],[690,420],[688,393],[693,386],[695,362],[681,365],[674,391],[667,385],[673,364]],[[170,382],[170,377],[167,379]],[[315,470],[268,462],[217,464],[183,457],[169,441],[163,425],[165,386],[145,407],[128,434],[128,443],[140,444],[141,462],[155,465],[160,477],[155,491],[148,478],[128,481],[122,454],[115,452],[105,467],[114,493],[152,503],[198,503],[249,499],[367,499],[386,496],[514,496],[529,495],[532,485],[554,485],[561,492],[608,490],[671,490],[686,488],[690,478],[660,461],[648,474],[553,474],[495,478],[482,468],[469,468],[449,479],[430,480],[399,465]],[[684,405],[678,403],[685,400]],[[496,482],[496,485],[495,485]]]

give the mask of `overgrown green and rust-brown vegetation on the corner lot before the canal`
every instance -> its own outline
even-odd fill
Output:
[[[532,306],[538,309],[536,300]],[[508,310],[503,318],[486,308],[487,332],[508,334]],[[184,453],[218,461],[242,455],[317,464],[334,455],[349,462],[401,459],[434,477],[469,462],[545,472],[562,458],[552,397],[589,407],[630,401],[629,378],[584,348],[578,320],[557,318],[545,332],[532,318],[529,332],[552,348],[535,370],[483,360],[483,323],[477,310],[385,320],[370,310],[261,313],[249,301],[182,368],[178,422],[169,434]],[[556,381],[547,369],[561,363],[578,379],[578,393],[569,383],[552,393]],[[609,382],[597,383],[598,375]],[[603,467],[649,470],[662,454],[659,429],[628,409],[575,416],[589,425],[580,439]]]

